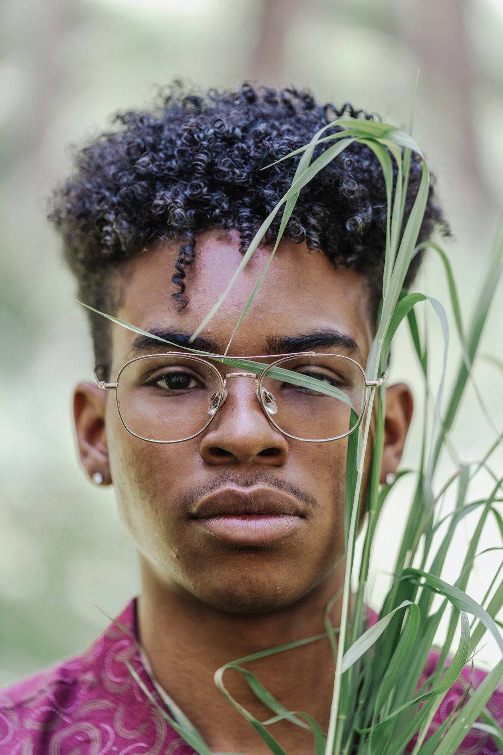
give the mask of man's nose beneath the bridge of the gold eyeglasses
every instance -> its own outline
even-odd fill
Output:
[[[199,453],[207,464],[253,461],[279,467],[288,458],[286,436],[268,422],[256,397],[256,382],[235,377],[226,384],[226,399],[201,438]]]

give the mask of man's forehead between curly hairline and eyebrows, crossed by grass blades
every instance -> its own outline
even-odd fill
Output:
[[[211,230],[198,236],[195,261],[186,275],[189,304],[180,310],[171,278],[179,246],[159,243],[130,260],[121,274],[118,316],[146,331],[170,329],[192,334],[232,281],[243,255],[235,231]],[[268,262],[271,247],[259,247],[202,335],[225,350],[235,325]],[[335,270],[321,252],[282,240],[229,353],[268,353],[277,337],[339,331],[352,338],[367,359],[373,338],[367,282],[346,268]],[[127,359],[134,334],[113,328],[115,357]]]

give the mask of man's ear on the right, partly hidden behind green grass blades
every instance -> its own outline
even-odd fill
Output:
[[[381,484],[388,474],[397,473],[403,446],[413,417],[413,394],[404,383],[391,385],[386,390],[385,441],[382,451]]]

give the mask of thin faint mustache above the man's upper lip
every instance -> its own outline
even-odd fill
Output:
[[[226,472],[225,475],[216,477],[209,484],[191,488],[179,498],[177,504],[183,511],[189,512],[192,510],[194,504],[204,495],[209,495],[221,488],[253,488],[254,485],[268,485],[281,492],[289,493],[311,509],[317,508],[319,505],[317,498],[311,495],[305,488],[299,488],[297,485],[293,485],[291,482],[287,482],[274,474],[264,472],[255,472],[253,474]]]

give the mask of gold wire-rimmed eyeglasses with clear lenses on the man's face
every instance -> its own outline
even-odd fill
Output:
[[[128,433],[152,443],[179,443],[202,433],[228,396],[227,383],[253,378],[256,397],[268,421],[295,440],[325,442],[344,438],[362,421],[369,388],[385,378],[367,381],[363,368],[348,356],[302,352],[281,356],[241,357],[247,372],[224,372],[190,353],[169,352],[138,356],[119,370],[115,383],[118,413]],[[212,357],[213,359],[213,357]],[[268,364],[247,362],[275,359]],[[251,370],[254,371],[251,371]],[[313,385],[312,381],[316,381]]]

